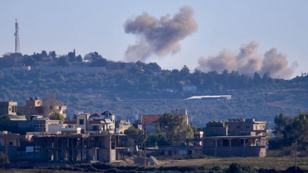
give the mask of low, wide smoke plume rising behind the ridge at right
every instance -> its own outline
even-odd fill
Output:
[[[213,70],[221,72],[225,69],[237,70],[245,74],[253,74],[256,71],[260,74],[269,72],[272,77],[281,78],[287,78],[293,74],[297,62],[293,62],[289,67],[286,56],[279,53],[276,48],[261,55],[258,53],[258,47],[259,44],[252,41],[241,46],[239,53],[224,49],[216,56],[200,57],[197,68],[206,72]]]

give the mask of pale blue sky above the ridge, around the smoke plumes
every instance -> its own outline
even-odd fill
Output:
[[[127,61],[128,45],[138,42],[136,34],[125,33],[124,23],[147,12],[160,18],[174,16],[183,6],[194,11],[197,31],[178,43],[175,54],[152,54],[145,62],[163,69],[190,70],[200,57],[216,56],[223,49],[239,52],[243,44],[257,42],[258,53],[271,48],[286,56],[288,66],[298,67],[290,78],[308,72],[308,1],[306,0],[2,0],[0,1],[0,55],[14,52],[14,19],[18,19],[22,54],[55,50],[67,54],[74,48],[84,56],[97,51],[113,61]]]

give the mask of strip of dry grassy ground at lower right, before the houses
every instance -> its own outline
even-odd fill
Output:
[[[211,158],[211,159],[189,159],[189,160],[164,160],[164,167],[173,166],[205,166],[212,168],[220,166],[222,169],[229,167],[231,163],[241,163],[254,168],[285,170],[294,166],[294,158],[291,157],[265,157],[265,158]],[[298,158],[297,165],[302,169],[308,169],[308,158]]]

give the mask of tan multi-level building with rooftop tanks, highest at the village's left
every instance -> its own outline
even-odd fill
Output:
[[[44,115],[45,117],[52,115],[53,112],[59,112],[64,118],[67,117],[67,106],[64,106],[60,100],[48,100],[43,103],[39,97],[30,97],[26,100],[26,106],[17,107],[26,117],[30,115]]]

